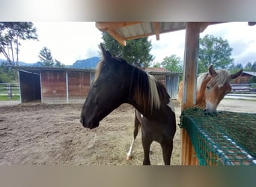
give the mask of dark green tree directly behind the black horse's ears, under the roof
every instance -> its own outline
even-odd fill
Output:
[[[150,62],[153,61],[153,55],[150,55],[152,44],[147,37],[128,40],[127,46],[124,47],[107,32],[103,32],[103,40],[104,46],[112,55],[120,56],[136,67],[149,67]]]

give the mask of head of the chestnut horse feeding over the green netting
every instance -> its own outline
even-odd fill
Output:
[[[243,70],[230,74],[228,70],[213,70],[213,65],[209,67],[208,76],[204,79],[205,113],[216,111],[219,102],[231,91],[231,79],[237,79]]]

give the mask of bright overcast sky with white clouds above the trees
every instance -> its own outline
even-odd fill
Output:
[[[39,41],[22,42],[19,61],[35,63],[43,46],[49,48],[52,57],[66,65],[99,56],[98,44],[102,42],[101,33],[95,27],[95,22],[34,22]],[[256,25],[249,26],[247,22],[228,22],[210,25],[200,37],[212,34],[228,40],[235,64],[246,64],[256,61]],[[183,59],[185,30],[168,34],[160,34],[160,40],[149,37],[152,42],[151,54],[154,61],[161,62],[165,56],[177,55]],[[0,58],[5,59],[0,56]]]

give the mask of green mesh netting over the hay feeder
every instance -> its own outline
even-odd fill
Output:
[[[192,141],[199,165],[256,165],[256,114],[187,108],[180,127]]]

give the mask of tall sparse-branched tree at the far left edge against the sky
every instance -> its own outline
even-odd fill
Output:
[[[37,40],[37,29],[32,22],[0,22],[0,54],[10,66],[19,65],[20,40]]]

